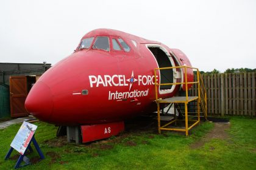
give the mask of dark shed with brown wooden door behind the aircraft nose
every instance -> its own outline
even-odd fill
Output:
[[[27,94],[50,67],[46,63],[0,63],[0,118],[29,114],[24,107]]]

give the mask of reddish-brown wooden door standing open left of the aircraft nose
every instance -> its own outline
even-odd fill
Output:
[[[24,117],[29,115],[25,109],[27,97],[27,77],[10,77],[10,111],[11,117]]]

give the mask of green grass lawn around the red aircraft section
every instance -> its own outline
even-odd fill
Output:
[[[215,124],[201,123],[189,137],[176,132],[124,132],[119,137],[76,146],[55,137],[57,127],[37,122],[35,138],[46,157],[28,157],[22,169],[256,169],[256,119],[230,117],[226,135],[210,134]],[[0,130],[0,169],[13,169],[18,152],[4,157],[21,124]],[[155,127],[157,128],[157,127]],[[34,149],[35,150],[35,149]]]

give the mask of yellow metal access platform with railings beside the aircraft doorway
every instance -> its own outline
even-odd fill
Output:
[[[163,70],[163,69],[181,69],[183,68],[185,70],[185,82],[183,83],[165,83],[165,84],[159,84],[157,83],[157,70]],[[196,80],[194,80],[193,82],[188,82],[188,78],[187,78],[187,69],[193,69],[196,70]],[[204,83],[202,81],[202,77],[199,73],[199,70],[197,68],[194,67],[188,67],[188,66],[177,66],[177,67],[164,67],[164,68],[157,68],[154,70],[154,74],[155,74],[155,101],[157,103],[157,121],[158,121],[158,132],[159,134],[161,133],[161,130],[168,130],[168,131],[182,131],[185,132],[186,135],[188,136],[188,131],[196,126],[196,124],[198,124],[200,122],[200,116],[201,116],[201,110],[202,110],[202,114],[204,115],[205,120],[207,120],[207,95],[206,95],[206,90],[204,87]],[[183,84],[183,86],[185,85],[185,92],[186,95],[185,97],[171,97],[171,98],[158,98],[158,86],[168,86],[168,85],[178,85],[178,84]],[[194,86],[197,86],[197,96],[188,96],[188,84],[194,84]],[[197,112],[196,112],[196,117],[197,120],[194,119],[188,119],[188,117],[190,117],[189,112],[188,112],[188,104],[192,101],[196,102],[196,108],[197,108]],[[174,103],[174,120],[169,121],[168,123],[164,124],[163,126],[161,126],[161,121],[160,121],[160,104],[166,104],[166,103]],[[179,105],[180,104],[184,104],[184,108],[185,108],[185,128],[177,128],[177,127],[169,127],[171,126],[172,123],[175,123],[177,121],[180,121],[177,119],[176,117],[176,108],[179,110]],[[192,122],[192,124],[190,126],[189,122]]]

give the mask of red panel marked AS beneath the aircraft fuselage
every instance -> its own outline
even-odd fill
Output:
[[[124,131],[124,122],[93,124],[81,126],[82,142],[100,140],[118,135]]]

